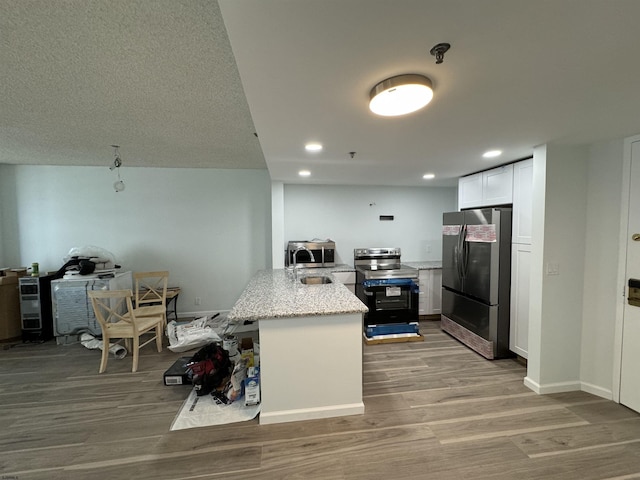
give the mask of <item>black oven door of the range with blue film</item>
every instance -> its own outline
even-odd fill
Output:
[[[356,295],[369,307],[365,326],[418,321],[416,282],[409,278],[364,280],[356,285]]]

